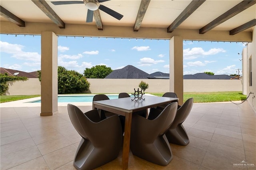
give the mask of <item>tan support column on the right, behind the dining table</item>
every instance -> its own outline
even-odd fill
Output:
[[[183,38],[170,39],[170,92],[176,93],[178,105],[183,104]]]

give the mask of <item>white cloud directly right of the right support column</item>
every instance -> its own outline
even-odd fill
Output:
[[[204,51],[202,47],[194,47],[191,50],[190,48],[184,49],[183,56],[184,56],[184,59],[195,59],[200,55],[214,55],[220,52],[224,53],[226,51],[222,48],[212,48],[209,51]]]

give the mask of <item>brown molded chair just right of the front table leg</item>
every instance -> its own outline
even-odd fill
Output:
[[[132,115],[130,149],[132,154],[149,162],[166,166],[172,160],[172,150],[165,136],[172,124],[178,103],[169,104],[153,120]],[[152,109],[150,112],[159,111]]]

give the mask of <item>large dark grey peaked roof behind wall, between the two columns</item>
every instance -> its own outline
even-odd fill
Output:
[[[105,79],[147,79],[148,73],[132,65],[112,71]]]

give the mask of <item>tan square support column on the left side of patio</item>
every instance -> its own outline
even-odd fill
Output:
[[[58,111],[58,38],[54,32],[41,34],[41,114]]]

